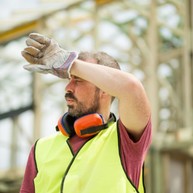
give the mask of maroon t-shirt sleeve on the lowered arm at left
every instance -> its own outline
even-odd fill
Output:
[[[32,146],[28,156],[24,178],[20,188],[20,193],[35,193],[34,178],[37,175],[37,169],[34,159],[34,150],[35,148],[34,146]]]

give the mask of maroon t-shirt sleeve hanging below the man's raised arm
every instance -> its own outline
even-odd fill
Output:
[[[119,145],[123,168],[135,187],[139,185],[141,169],[151,144],[152,124],[148,121],[140,139],[135,142],[119,120]]]

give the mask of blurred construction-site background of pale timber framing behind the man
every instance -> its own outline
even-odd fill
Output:
[[[192,0],[0,0],[0,193],[19,192],[32,144],[66,111],[65,80],[23,69],[30,32],[137,76],[153,117],[147,193],[193,193]]]

